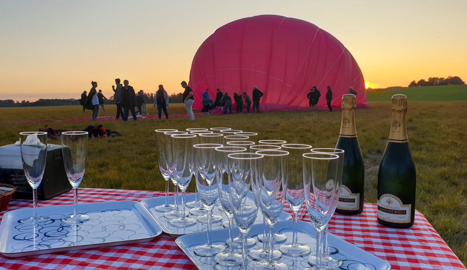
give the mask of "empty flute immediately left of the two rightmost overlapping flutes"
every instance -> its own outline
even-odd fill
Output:
[[[302,256],[311,252],[309,246],[298,243],[297,239],[298,211],[302,208],[305,201],[302,155],[310,151],[311,145],[285,144],[281,145],[281,147],[283,150],[289,152],[289,180],[287,188],[283,192],[293,212],[293,233],[292,242],[282,244],[279,249],[285,254]]]

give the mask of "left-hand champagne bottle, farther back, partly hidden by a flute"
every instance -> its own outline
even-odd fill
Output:
[[[363,211],[365,165],[355,129],[355,95],[342,96],[342,122],[336,148],[344,150],[342,186],[336,213],[356,215]]]

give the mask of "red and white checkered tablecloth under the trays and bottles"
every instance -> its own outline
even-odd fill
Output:
[[[162,196],[162,192],[116,189],[79,189],[79,202],[101,202],[143,199]],[[73,202],[69,192],[39,206],[63,205]],[[13,200],[8,210],[31,207],[31,201]],[[284,210],[291,214],[288,206]],[[0,215],[3,215],[2,212]],[[300,218],[309,221],[305,210]],[[387,260],[395,270],[458,270],[466,269],[441,239],[425,217],[416,211],[415,224],[408,229],[393,229],[376,221],[376,205],[365,204],[360,215],[334,215],[329,231],[347,242]],[[83,249],[29,257],[8,258],[0,255],[0,269],[11,270],[94,270],[94,269],[196,269],[188,256],[175,244],[175,238],[159,235],[150,242],[109,248]]]

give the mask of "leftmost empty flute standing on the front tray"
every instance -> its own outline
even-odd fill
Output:
[[[203,135],[203,134],[201,134]],[[197,144],[193,145],[195,150],[195,169],[200,177],[196,180],[199,197],[207,210],[207,243],[197,246],[193,251],[199,256],[214,256],[225,250],[224,245],[213,243],[211,240],[212,209],[219,198],[217,185],[217,160],[216,147],[221,144]],[[198,216],[198,220],[199,220]]]

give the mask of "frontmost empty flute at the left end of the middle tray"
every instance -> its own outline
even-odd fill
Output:
[[[172,147],[172,162],[174,164],[175,179],[178,188],[182,191],[181,216],[170,220],[173,226],[184,227],[196,223],[196,219],[185,216],[185,191],[193,177],[193,141],[194,134],[172,135],[167,147]]]

